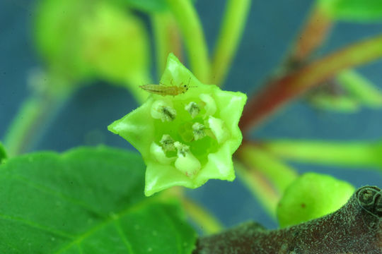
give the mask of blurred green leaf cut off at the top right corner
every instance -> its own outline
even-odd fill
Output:
[[[381,0],[318,0],[318,2],[335,19],[349,21],[382,19]]]

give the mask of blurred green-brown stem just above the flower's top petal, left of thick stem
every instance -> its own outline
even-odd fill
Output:
[[[182,59],[180,31],[170,12],[153,13],[151,25],[155,37],[157,74],[161,77],[166,67],[168,54],[173,52],[178,59]]]

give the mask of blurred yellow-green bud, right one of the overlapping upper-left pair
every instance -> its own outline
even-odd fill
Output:
[[[149,40],[141,20],[126,9],[100,1],[83,18],[82,29],[83,57],[99,75],[119,83],[146,78]]]

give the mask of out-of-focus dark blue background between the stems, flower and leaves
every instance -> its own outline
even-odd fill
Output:
[[[250,95],[283,59],[301,28],[313,1],[253,1],[248,24],[238,54],[233,61],[225,88]],[[42,66],[33,44],[35,1],[0,1],[0,137],[16,115],[23,99],[30,95],[28,73]],[[224,1],[197,1],[209,48],[212,49],[224,11]],[[382,23],[336,23],[320,53],[331,52],[349,42],[382,32]],[[359,68],[360,73],[382,87],[382,62]],[[46,126],[33,150],[64,151],[78,145],[103,143],[132,149],[125,140],[109,133],[109,123],[137,107],[127,90],[98,81],[83,87]],[[379,140],[382,111],[361,109],[357,114],[338,114],[313,109],[300,100],[279,111],[253,132],[253,138],[296,138],[323,140]],[[382,156],[382,155],[381,155]],[[338,167],[293,164],[300,172],[318,171],[345,179],[354,186],[382,186],[382,174],[372,169],[355,171]],[[249,191],[237,179],[233,183],[209,181],[197,190],[187,191],[202,202],[226,226],[254,219],[274,228],[272,221]]]

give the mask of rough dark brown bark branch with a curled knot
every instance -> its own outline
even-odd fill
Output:
[[[365,186],[325,217],[277,230],[242,224],[199,238],[193,254],[381,254],[381,217],[381,189]]]

